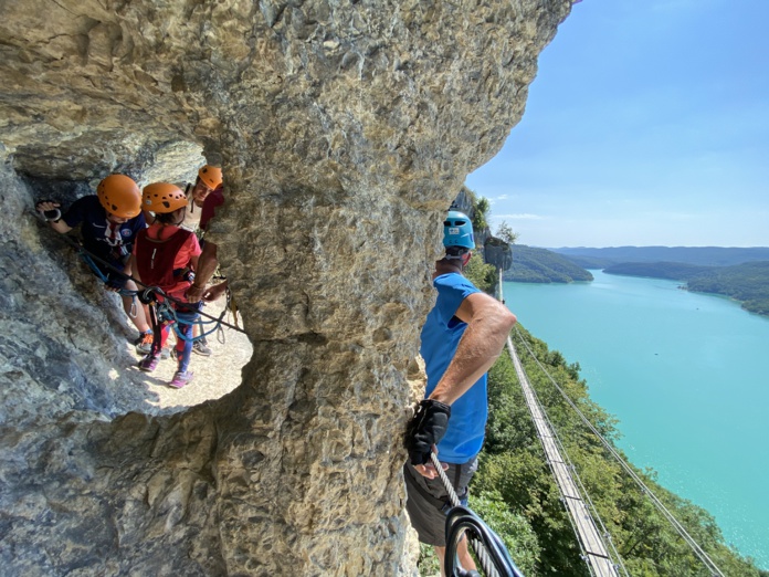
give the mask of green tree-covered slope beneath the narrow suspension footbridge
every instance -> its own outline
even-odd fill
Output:
[[[590,400],[587,384],[579,377],[579,365],[568,365],[558,352],[549,350],[545,343],[523,328],[515,329],[513,336],[531,386],[630,575],[709,577],[710,573],[647,495],[610,457],[548,376],[601,434],[613,442],[619,437],[617,422]],[[488,386],[487,438],[481,466],[471,485],[471,507],[504,538],[512,557],[527,577],[587,577],[588,568],[580,557],[575,533],[506,353],[491,370]],[[635,472],[725,575],[769,575],[724,543],[720,529],[706,511],[657,485],[653,472]]]

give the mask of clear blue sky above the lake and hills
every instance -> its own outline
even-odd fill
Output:
[[[584,0],[466,185],[535,246],[769,245],[769,0]]]

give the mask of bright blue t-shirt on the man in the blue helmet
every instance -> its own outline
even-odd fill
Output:
[[[443,377],[467,324],[454,316],[467,296],[481,291],[459,273],[438,276],[433,281],[438,290],[435,306],[422,327],[420,353],[425,363],[428,386],[425,398]],[[438,455],[446,463],[466,463],[481,452],[486,430],[488,403],[486,375],[481,377],[451,406],[446,434],[438,443]]]

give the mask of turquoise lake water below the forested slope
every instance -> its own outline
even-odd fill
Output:
[[[769,318],[676,281],[591,272],[590,283],[504,283],[506,304],[579,363],[633,464],[769,569]]]

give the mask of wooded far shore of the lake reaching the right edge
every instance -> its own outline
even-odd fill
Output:
[[[623,263],[608,266],[604,272],[683,281],[689,291],[729,296],[739,301],[746,311],[769,315],[769,262],[748,262],[734,266],[697,266],[673,262]]]

